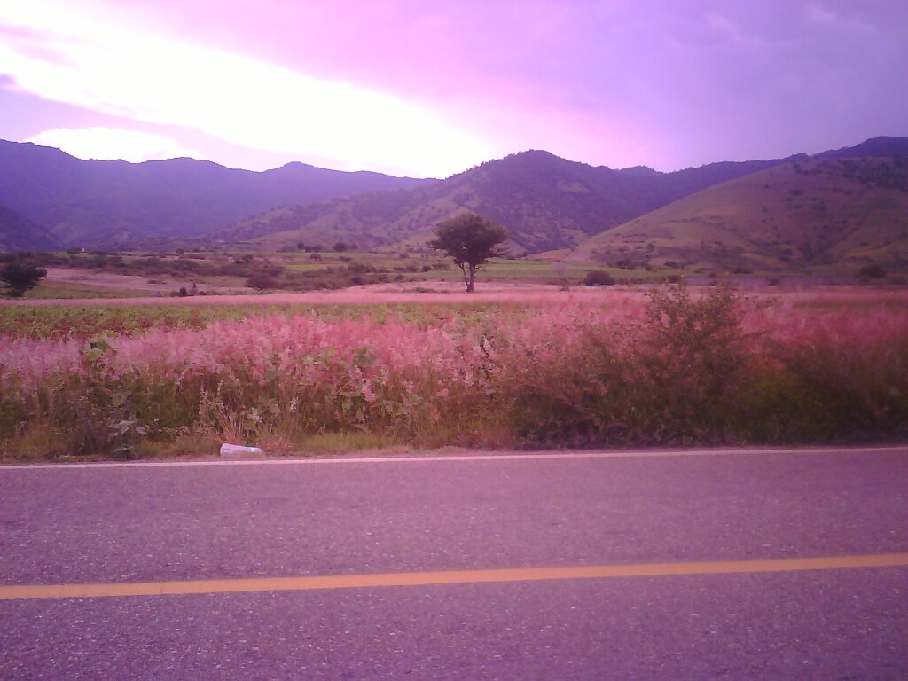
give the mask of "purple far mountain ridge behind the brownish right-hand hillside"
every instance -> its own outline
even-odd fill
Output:
[[[908,138],[874,137],[813,156],[720,161],[664,173],[646,166],[615,170],[528,150],[432,180],[299,162],[255,173],[195,159],[81,161],[52,147],[0,141],[0,205],[11,212],[5,229],[9,234],[8,225],[15,225],[19,232],[15,239],[5,237],[0,250],[14,242],[38,250],[51,243],[136,248],[189,239],[195,245],[248,242],[266,248],[342,241],[419,251],[439,222],[473,211],[508,228],[514,254],[582,252],[581,244],[597,235],[619,230],[617,236],[619,228],[645,215],[771,168],[834,162],[840,174],[851,173],[859,183],[897,185],[898,169],[883,176],[880,168],[859,161],[902,156],[908,157]],[[300,196],[304,201],[294,200]],[[34,234],[31,242],[28,233]]]

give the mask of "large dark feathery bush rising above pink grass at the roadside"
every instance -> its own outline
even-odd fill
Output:
[[[725,441],[751,350],[743,301],[651,291],[637,325],[589,329],[548,366],[527,364],[515,407],[522,437],[546,446]]]

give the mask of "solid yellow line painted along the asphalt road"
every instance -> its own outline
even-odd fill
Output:
[[[546,579],[603,579],[608,577],[676,577],[731,575],[747,572],[793,572],[842,568],[908,566],[908,553],[770,560],[726,560],[694,563],[638,563],[630,565],[568,566],[562,568],[508,568],[397,572],[374,575],[321,577],[257,577],[252,579],[198,579],[125,584],[50,584],[0,586],[0,600],[12,598],[95,598],[230,594],[259,591],[311,591],[337,588],[427,587],[445,584],[529,582]]]

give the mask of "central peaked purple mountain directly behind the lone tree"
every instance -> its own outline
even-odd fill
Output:
[[[682,196],[779,163],[783,161],[712,163],[658,173],[643,167],[594,167],[529,151],[409,192],[282,207],[212,236],[270,247],[337,241],[364,248],[419,246],[439,222],[469,210],[508,228],[512,252],[535,253],[576,245]]]

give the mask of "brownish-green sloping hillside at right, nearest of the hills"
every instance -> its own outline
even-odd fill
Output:
[[[583,242],[622,267],[851,271],[908,266],[908,157],[820,155],[710,187]]]

